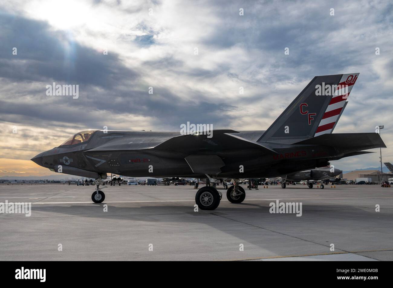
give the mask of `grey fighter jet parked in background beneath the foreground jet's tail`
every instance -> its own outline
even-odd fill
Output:
[[[312,183],[309,182],[309,180],[330,180],[333,177],[336,177],[337,175],[340,175],[342,171],[340,169],[334,168],[334,167],[321,167],[321,168],[315,168],[311,170],[306,170],[306,171],[300,171],[296,173],[291,173],[286,175],[286,177],[281,177],[282,179],[289,180],[289,181],[302,181],[302,180],[307,180],[307,186],[309,188],[312,188]],[[335,181],[336,179],[331,179],[332,181]],[[286,187],[285,182],[281,184],[282,188]],[[325,186],[323,184],[320,185],[320,188],[323,189]]]

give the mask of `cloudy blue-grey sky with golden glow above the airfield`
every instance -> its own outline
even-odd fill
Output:
[[[314,76],[343,73],[360,76],[334,132],[384,124],[393,162],[392,10],[373,0],[0,0],[0,177],[50,175],[29,159],[90,128],[264,130]],[[47,96],[53,82],[79,85],[79,98]],[[373,151],[332,164],[375,167]]]

